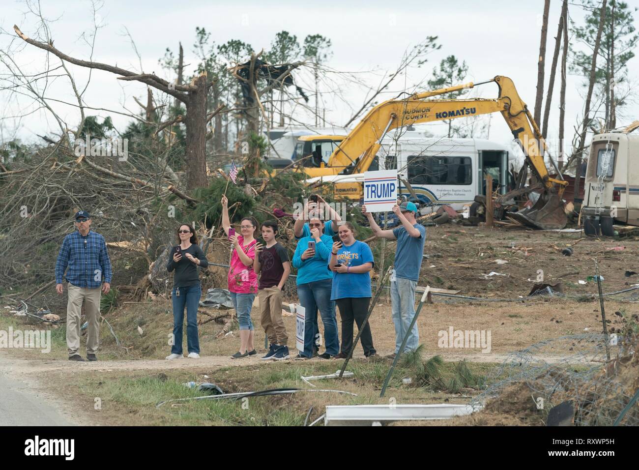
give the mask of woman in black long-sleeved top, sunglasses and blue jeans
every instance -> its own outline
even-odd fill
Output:
[[[173,346],[169,361],[180,359],[182,356],[182,327],[184,322],[184,307],[187,308],[187,346],[189,357],[199,357],[199,341],[197,339],[197,306],[202,296],[199,276],[196,266],[207,267],[208,261],[204,252],[197,244],[196,231],[189,224],[181,224],[178,228],[180,244],[174,246],[169,254],[167,271],[175,270],[173,276]]]

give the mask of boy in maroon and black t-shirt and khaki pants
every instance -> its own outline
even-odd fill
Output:
[[[261,324],[268,337],[270,347],[261,359],[282,361],[289,359],[288,335],[282,320],[282,288],[291,274],[291,262],[286,248],[275,240],[277,222],[262,224],[262,238],[266,246],[255,247],[253,270],[261,274],[258,285],[259,313]]]

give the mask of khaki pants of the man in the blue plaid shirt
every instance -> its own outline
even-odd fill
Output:
[[[82,325],[82,302],[86,320],[86,353],[96,354],[100,342],[100,292],[101,288],[89,289],[69,286],[69,301],[66,304],[66,350],[69,356],[79,354],[80,327]]]

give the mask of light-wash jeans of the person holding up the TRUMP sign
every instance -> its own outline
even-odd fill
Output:
[[[390,283],[390,302],[392,305],[392,318],[395,325],[395,354],[399,352],[399,347],[404,336],[408,334],[404,352],[414,351],[419,345],[419,332],[417,322],[409,332],[410,322],[415,317],[415,288],[417,281],[411,279],[397,278]]]

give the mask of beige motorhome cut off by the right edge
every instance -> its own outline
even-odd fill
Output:
[[[612,236],[613,223],[639,226],[638,155],[639,135],[608,132],[592,137],[581,210],[587,235]]]

